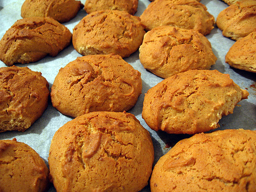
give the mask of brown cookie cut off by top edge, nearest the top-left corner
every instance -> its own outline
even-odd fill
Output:
[[[75,0],[25,0],[21,16],[52,17],[59,23],[68,22],[83,8],[80,1]]]

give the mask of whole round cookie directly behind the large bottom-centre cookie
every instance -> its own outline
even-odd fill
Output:
[[[141,91],[140,72],[121,56],[88,55],[59,70],[51,99],[59,112],[77,117],[93,111],[128,111]]]

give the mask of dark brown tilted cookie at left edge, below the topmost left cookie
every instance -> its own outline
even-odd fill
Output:
[[[0,59],[13,66],[38,61],[48,54],[54,57],[71,38],[69,29],[51,17],[19,19],[0,40]]]

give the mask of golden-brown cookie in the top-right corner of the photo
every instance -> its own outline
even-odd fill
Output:
[[[256,1],[238,1],[223,11],[216,19],[223,36],[239,40],[256,29]]]

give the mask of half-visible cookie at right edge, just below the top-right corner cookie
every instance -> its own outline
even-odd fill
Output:
[[[226,54],[231,67],[256,73],[256,31],[234,42]]]

